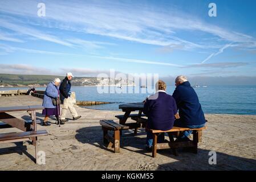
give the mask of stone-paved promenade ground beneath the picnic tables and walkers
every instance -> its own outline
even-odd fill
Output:
[[[38,105],[42,100],[32,96],[0,98],[1,106]],[[46,129],[50,135],[39,138],[39,150],[46,152],[46,165],[36,165],[30,159],[34,146],[24,142],[0,144],[0,170],[256,170],[256,115],[206,114],[208,129],[203,131],[198,154],[179,150],[161,150],[156,158],[145,148],[145,130],[135,137],[125,131],[121,137],[121,152],[114,154],[103,147],[100,119],[113,119],[121,111],[100,111],[76,106],[82,119],[58,127],[55,118]],[[38,119],[43,119],[38,111]],[[11,113],[29,119],[26,112]],[[72,118],[68,115],[68,118]],[[1,129],[1,133],[19,131]],[[27,150],[24,150],[27,149]],[[208,163],[209,151],[217,152],[217,164]]]

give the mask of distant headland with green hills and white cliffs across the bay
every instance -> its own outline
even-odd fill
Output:
[[[51,76],[51,75],[10,75],[0,74],[0,87],[23,87],[23,86],[46,86],[54,78],[60,78],[63,80],[63,76]],[[113,79],[113,78],[96,78],[96,77],[74,77],[72,79],[73,86],[126,86],[134,85],[131,80]]]

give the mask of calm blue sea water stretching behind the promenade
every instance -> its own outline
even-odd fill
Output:
[[[129,87],[123,86],[122,89],[111,87],[111,91],[120,92],[128,90]],[[14,90],[28,88],[0,88],[0,90]],[[36,88],[44,90],[45,88]],[[97,87],[72,87],[72,92],[76,93],[76,100],[80,101],[105,101],[113,104],[87,106],[91,109],[99,110],[119,110],[120,104],[128,102],[141,102],[149,95],[145,89],[139,87],[129,88],[133,93],[98,93]],[[134,90],[139,89],[140,93]],[[174,86],[168,86],[167,93],[172,94]],[[250,86],[208,86],[206,88],[194,88],[198,94],[202,109],[205,113],[216,114],[256,114],[256,85]]]

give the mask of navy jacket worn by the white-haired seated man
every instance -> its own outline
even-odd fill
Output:
[[[185,125],[202,125],[205,123],[205,115],[197,94],[188,81],[178,85],[172,96],[176,100],[180,120]]]

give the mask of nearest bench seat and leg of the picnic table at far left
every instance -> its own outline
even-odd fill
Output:
[[[38,131],[26,131],[22,133],[6,133],[0,134],[0,144],[1,143],[13,143],[13,142],[23,142],[33,139],[33,145],[35,146],[35,162],[38,163],[38,144],[37,137],[42,137],[48,135],[46,130]]]

